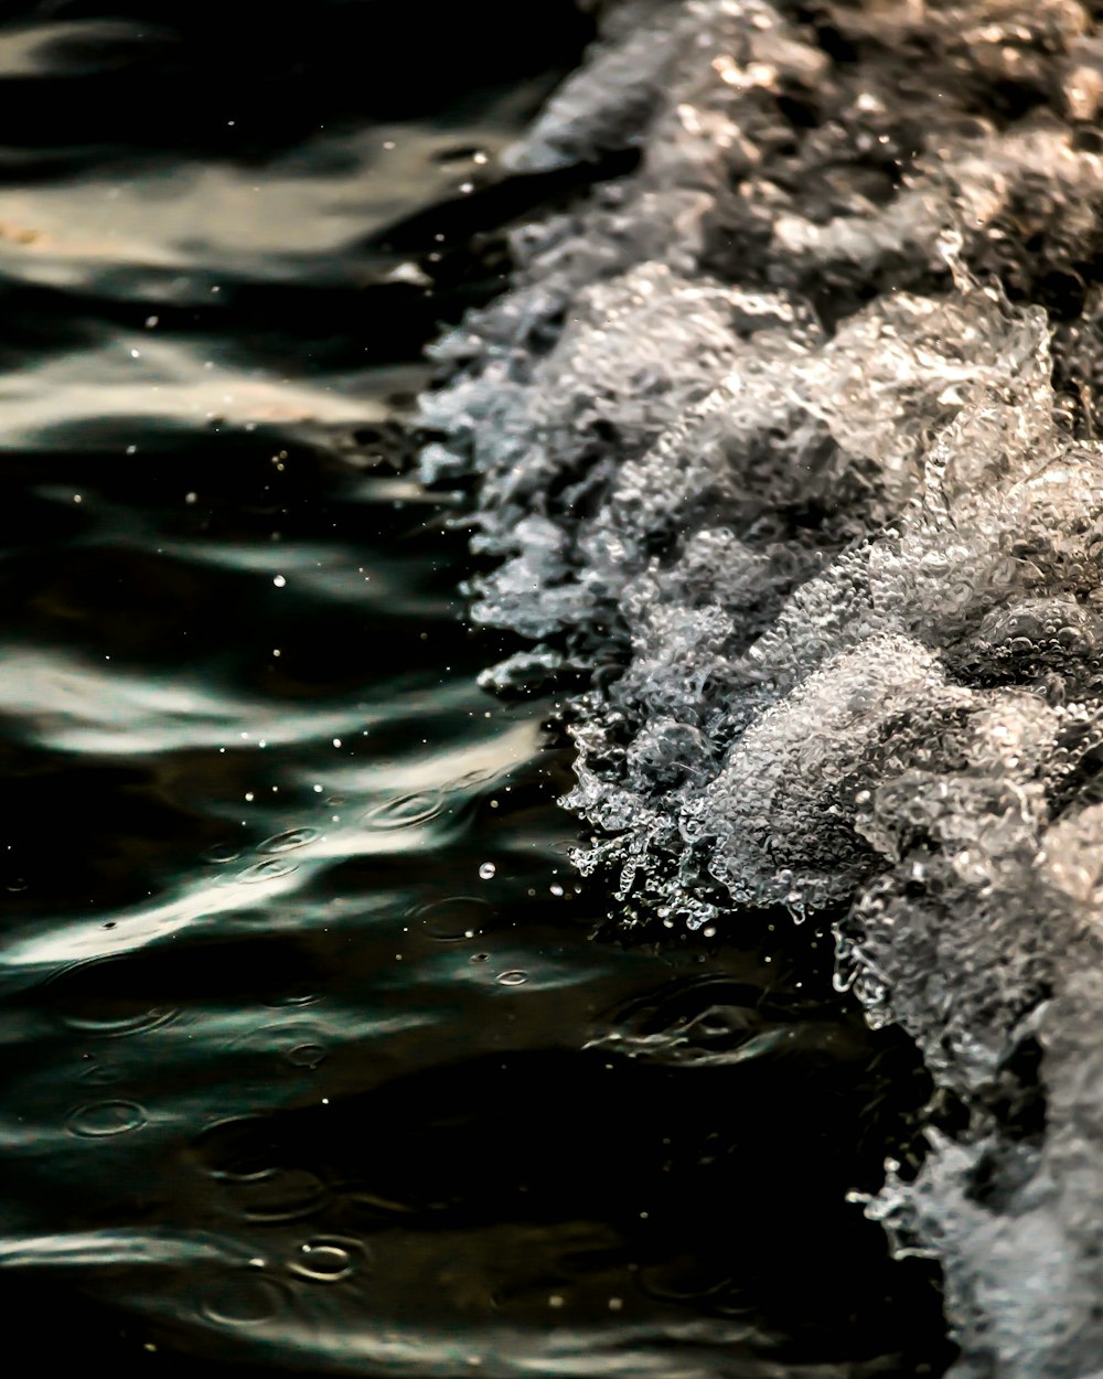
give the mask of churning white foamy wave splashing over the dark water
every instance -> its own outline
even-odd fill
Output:
[[[476,616],[583,673],[625,924],[818,914],[939,1088],[866,1211],[957,1376],[1103,1373],[1103,37],[1075,0],[625,0],[512,152],[627,174],[436,349]],[[800,935],[794,935],[794,942]]]

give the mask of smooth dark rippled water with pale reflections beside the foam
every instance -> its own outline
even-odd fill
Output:
[[[560,0],[8,4],[0,1267],[55,1372],[939,1369],[847,1202],[909,1051],[768,918],[618,938],[476,685],[441,323],[567,181]],[[798,956],[794,956],[798,954]]]

